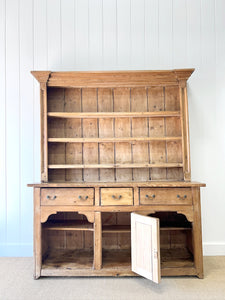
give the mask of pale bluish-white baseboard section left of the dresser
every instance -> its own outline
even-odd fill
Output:
[[[0,244],[0,256],[27,257],[33,255],[32,244]]]

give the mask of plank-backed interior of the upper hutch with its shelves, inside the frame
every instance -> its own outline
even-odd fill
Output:
[[[49,181],[184,179],[178,85],[146,88],[49,87],[47,95],[49,113],[103,113],[98,118],[48,117]],[[117,115],[118,112],[173,114],[126,117]],[[107,117],[104,113],[115,115]],[[80,142],[75,140],[79,138]],[[93,138],[96,140],[90,140]],[[109,140],[104,140],[107,138]],[[120,141],[117,142],[117,138],[121,138]],[[131,139],[127,141],[128,138]],[[98,168],[99,164],[103,168]],[[126,168],[122,164],[126,164]],[[167,164],[170,164],[168,168]],[[63,165],[69,165],[71,169],[63,168]]]

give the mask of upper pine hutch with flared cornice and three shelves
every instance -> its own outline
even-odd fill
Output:
[[[32,72],[41,83],[42,181],[190,181],[192,72]]]

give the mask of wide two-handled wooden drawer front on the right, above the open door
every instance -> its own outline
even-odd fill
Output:
[[[140,188],[140,204],[192,205],[190,188]]]

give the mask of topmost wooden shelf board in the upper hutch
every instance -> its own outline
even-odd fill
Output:
[[[48,112],[48,117],[54,118],[157,118],[180,117],[180,111],[154,112]]]

